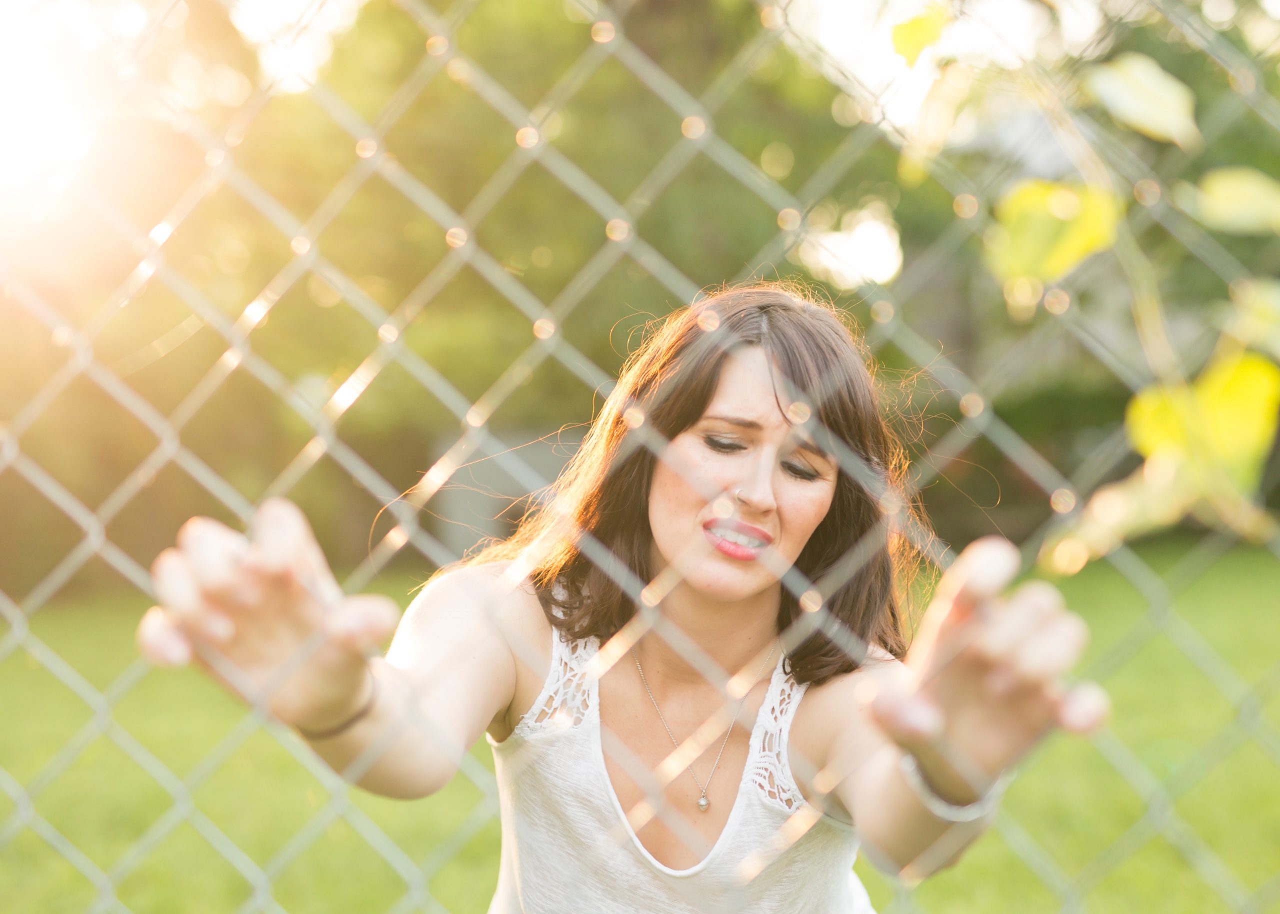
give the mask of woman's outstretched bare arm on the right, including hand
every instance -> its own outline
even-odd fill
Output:
[[[1060,678],[1083,650],[1084,622],[1043,581],[1000,599],[1018,552],[993,539],[948,568],[905,663],[868,663],[841,684],[842,695],[826,699],[845,709],[831,717],[838,723],[827,780],[868,856],[909,878],[955,863],[991,817],[959,823],[934,815],[900,767],[905,754],[937,799],[961,806],[1053,726],[1088,732],[1107,713],[1098,686],[1068,690]]]

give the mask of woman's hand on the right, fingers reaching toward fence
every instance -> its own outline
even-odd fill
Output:
[[[1110,712],[1097,684],[1064,682],[1088,626],[1057,588],[1028,581],[1000,595],[1020,561],[1002,536],[970,543],[942,576],[905,658],[911,687],[872,704],[884,734],[954,804],[978,799],[1055,726],[1087,734]]]

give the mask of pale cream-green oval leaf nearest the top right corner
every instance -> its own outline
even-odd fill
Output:
[[[1091,67],[1084,86],[1121,124],[1187,150],[1201,146],[1194,92],[1146,54]]]

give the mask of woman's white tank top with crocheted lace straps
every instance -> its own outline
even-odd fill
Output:
[[[640,844],[609,782],[585,669],[598,649],[553,627],[538,700],[502,742],[485,735],[502,817],[489,914],[874,914],[852,870],[854,830],[809,804],[791,776],[787,734],[808,684],[782,672],[782,657],[723,832],[700,863],[672,869]]]

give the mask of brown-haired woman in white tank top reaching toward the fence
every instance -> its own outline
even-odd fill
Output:
[[[484,732],[493,914],[870,911],[859,846],[908,877],[947,865],[1021,754],[1107,713],[1061,680],[1087,630],[1059,591],[1001,597],[1020,556],[1000,538],[952,563],[908,649],[905,470],[840,312],[726,289],[649,335],[552,498],[403,618],[344,598],[271,498],[251,538],[183,525],[140,646],[200,646],[388,796],[439,790]]]

